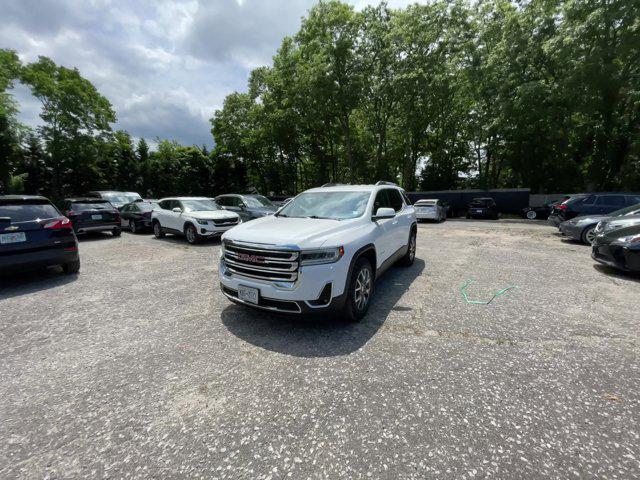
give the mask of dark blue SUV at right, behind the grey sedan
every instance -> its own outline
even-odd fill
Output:
[[[549,215],[549,223],[558,226],[574,217],[586,215],[606,215],[624,207],[640,203],[640,194],[593,193],[572,196],[558,205],[554,205]]]

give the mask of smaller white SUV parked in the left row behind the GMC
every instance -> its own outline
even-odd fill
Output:
[[[206,197],[163,198],[151,214],[151,225],[156,238],[165,233],[184,235],[189,243],[213,238],[242,223],[233,212],[223,210]]]

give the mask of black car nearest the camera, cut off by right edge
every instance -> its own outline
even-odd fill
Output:
[[[640,225],[597,235],[591,257],[620,270],[640,272]]]

